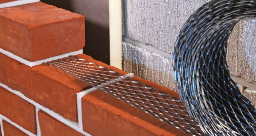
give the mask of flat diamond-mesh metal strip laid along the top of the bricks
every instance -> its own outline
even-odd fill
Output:
[[[47,63],[191,135],[203,135],[185,105],[172,96],[77,56]]]

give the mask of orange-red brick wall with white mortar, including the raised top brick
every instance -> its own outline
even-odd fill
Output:
[[[0,19],[1,135],[186,135],[61,70],[35,63],[82,49],[83,16],[35,2],[0,8]],[[76,56],[127,74],[86,54]],[[173,90],[132,79],[177,97]]]

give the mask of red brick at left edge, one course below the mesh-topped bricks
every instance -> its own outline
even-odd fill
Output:
[[[0,90],[0,113],[36,134],[35,106],[3,87]]]

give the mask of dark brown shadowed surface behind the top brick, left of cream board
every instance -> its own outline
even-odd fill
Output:
[[[84,53],[110,64],[108,0],[41,0],[85,16]]]

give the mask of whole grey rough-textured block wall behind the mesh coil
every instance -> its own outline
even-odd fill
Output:
[[[208,1],[123,0],[123,69],[176,90],[171,61],[176,37],[187,18]],[[255,28],[255,20],[240,21],[227,54],[230,74],[253,83],[251,90],[256,90]]]

